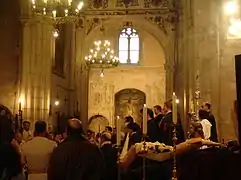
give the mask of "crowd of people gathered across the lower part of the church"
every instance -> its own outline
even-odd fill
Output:
[[[206,103],[199,110],[199,121],[192,124],[188,138],[200,137],[217,141],[215,118],[211,105]],[[142,110],[141,110],[142,112]],[[173,145],[172,102],[163,108],[154,106],[147,110],[147,135],[131,116],[124,119],[121,146],[116,145],[116,128],[107,126],[105,131],[95,134],[84,132],[82,122],[69,119],[66,131],[54,134],[48,131],[45,121],[34,124],[23,122],[22,131],[12,129],[11,119],[0,120],[0,179],[1,180],[139,180],[143,176],[142,158],[136,158],[128,167],[121,166],[122,157],[131,147],[143,140]],[[178,116],[176,132],[178,143],[185,141],[181,118]],[[170,178],[172,163],[147,161],[148,179]],[[120,173],[121,172],[121,173]]]

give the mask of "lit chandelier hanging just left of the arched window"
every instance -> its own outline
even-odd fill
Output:
[[[108,40],[95,41],[94,48],[90,49],[89,54],[85,56],[86,64],[92,68],[100,68],[103,75],[103,69],[117,67],[118,57],[111,49],[111,43]]]

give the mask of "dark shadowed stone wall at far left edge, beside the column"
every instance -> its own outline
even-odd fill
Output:
[[[0,7],[0,104],[16,112],[19,70],[21,22],[18,1],[3,1]]]

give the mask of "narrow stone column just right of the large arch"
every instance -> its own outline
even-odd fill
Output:
[[[196,65],[193,47],[193,15],[191,1],[180,1],[181,15],[178,22],[178,59],[175,65],[175,91],[180,99],[178,105],[182,124],[187,131],[187,113],[193,110]]]

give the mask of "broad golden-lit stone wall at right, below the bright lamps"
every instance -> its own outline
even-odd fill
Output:
[[[228,24],[223,4],[217,1],[181,1],[179,23],[179,64],[176,83],[184,84],[183,109],[195,107],[195,91],[200,90],[199,105],[209,101],[217,121],[220,140],[237,138],[233,116],[236,99],[234,54],[240,43],[227,39]],[[196,107],[197,108],[197,107]],[[186,113],[185,112],[185,113]],[[188,122],[187,122],[188,124]]]

